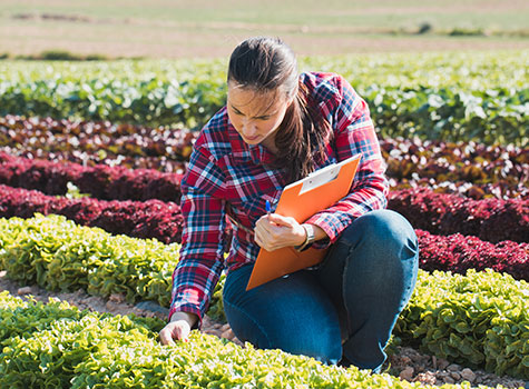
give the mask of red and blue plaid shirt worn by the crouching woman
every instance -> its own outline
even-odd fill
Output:
[[[345,79],[311,72],[301,74],[301,80],[334,132],[334,141],[327,144],[327,159],[317,168],[362,153],[350,194],[306,221],[329,235],[329,240],[314,246],[326,248],[352,220],[385,207],[385,163],[368,104]],[[273,159],[263,146],[243,141],[226,108],[202,130],[182,181],[186,223],[180,260],[173,273],[169,318],[176,311],[186,311],[202,320],[223,269],[229,272],[255,261],[259,250],[252,233],[255,222],[266,213],[266,200],[274,205],[283,190],[280,178],[285,172],[271,167]],[[236,222],[225,259],[226,216]]]

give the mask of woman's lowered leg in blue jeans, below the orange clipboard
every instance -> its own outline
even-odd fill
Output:
[[[252,268],[233,271],[224,286],[226,318],[237,338],[336,363],[342,353],[339,320],[313,276],[300,271],[246,291]]]

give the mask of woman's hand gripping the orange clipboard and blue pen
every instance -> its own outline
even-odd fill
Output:
[[[274,251],[302,245],[306,239],[306,231],[294,218],[271,213],[257,220],[254,238],[259,247]]]

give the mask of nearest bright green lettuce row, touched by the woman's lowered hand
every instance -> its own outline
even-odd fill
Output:
[[[161,322],[79,311],[0,293],[3,388],[428,388],[388,375],[324,366],[281,350],[242,348],[198,331],[161,346]],[[431,388],[431,387],[429,387]],[[444,385],[444,389],[466,388]],[[500,388],[500,387],[498,387]]]

